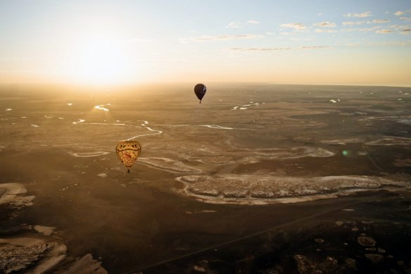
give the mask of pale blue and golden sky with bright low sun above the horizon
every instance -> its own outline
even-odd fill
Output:
[[[410,0],[0,0],[0,83],[411,87]]]

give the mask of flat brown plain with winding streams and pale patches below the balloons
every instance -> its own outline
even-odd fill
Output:
[[[411,271],[410,88],[191,86],[0,87],[0,272]]]

